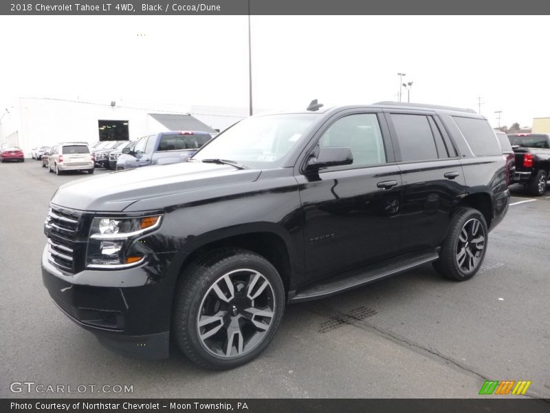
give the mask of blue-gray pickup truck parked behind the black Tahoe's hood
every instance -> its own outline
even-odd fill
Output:
[[[210,139],[212,135],[203,131],[169,131],[144,136],[134,147],[122,149],[116,169],[184,162]]]

